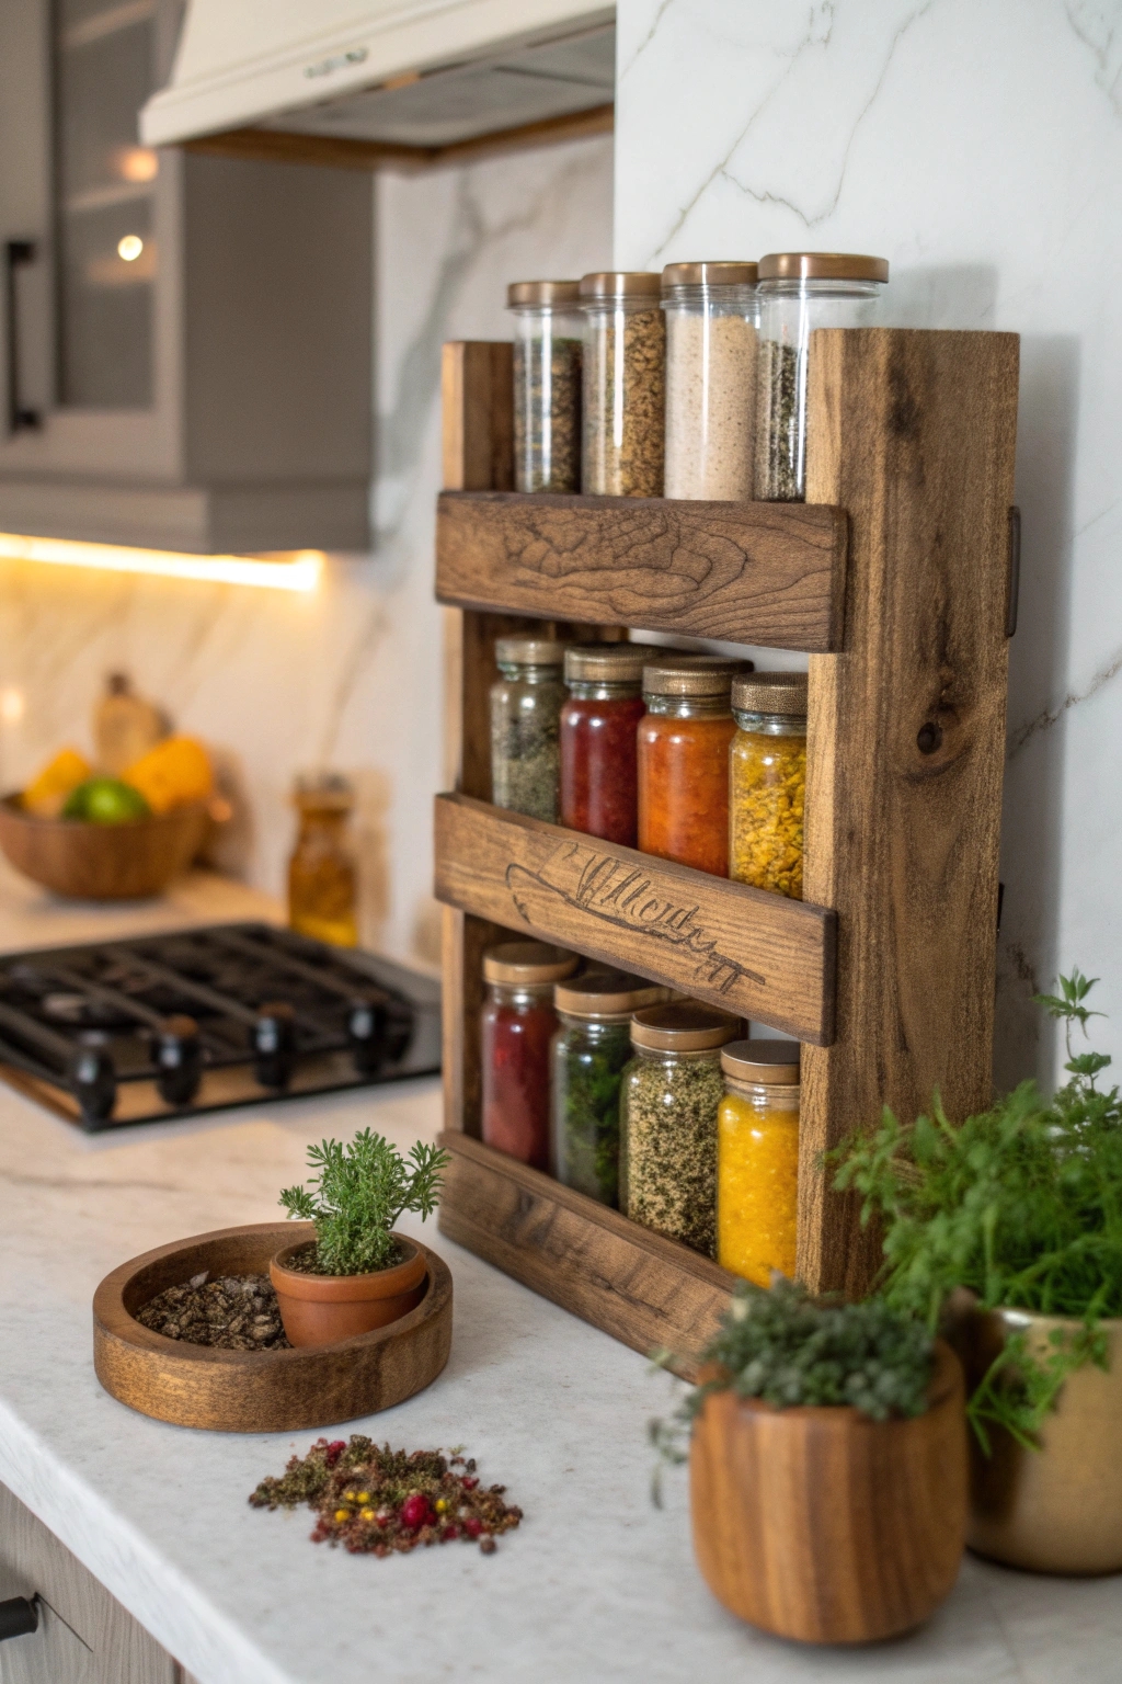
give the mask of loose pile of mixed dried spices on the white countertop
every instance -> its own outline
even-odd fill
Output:
[[[378,1448],[362,1433],[318,1438],[306,1457],[291,1457],[281,1479],[262,1479],[251,1494],[254,1509],[316,1511],[313,1544],[343,1544],[353,1556],[407,1554],[417,1544],[479,1544],[495,1554],[495,1539],[521,1521],[503,1502],[505,1485],[479,1484],[474,1458],[459,1450]]]

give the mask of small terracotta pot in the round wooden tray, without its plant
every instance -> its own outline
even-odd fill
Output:
[[[276,1253],[269,1280],[289,1346],[333,1346],[338,1339],[387,1327],[417,1308],[426,1290],[424,1251],[404,1234],[394,1239],[405,1261],[372,1275],[306,1275],[288,1268],[288,1260],[308,1244],[306,1239]]]

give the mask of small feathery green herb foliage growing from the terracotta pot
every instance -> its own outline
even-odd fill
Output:
[[[313,1175],[306,1187],[286,1187],[289,1216],[316,1224],[316,1273],[368,1275],[397,1260],[394,1224],[405,1211],[424,1221],[436,1209],[447,1152],[414,1145],[402,1157],[384,1135],[363,1128],[343,1145],[308,1147]]]

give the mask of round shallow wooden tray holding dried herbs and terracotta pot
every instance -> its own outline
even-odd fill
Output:
[[[94,1293],[94,1369],[121,1403],[175,1426],[219,1433],[296,1433],[375,1415],[424,1391],[453,1342],[453,1276],[427,1246],[415,1310],[372,1334],[296,1351],[214,1351],[153,1334],[133,1312],[209,1270],[266,1275],[281,1246],[306,1243],[311,1223],[220,1228],[121,1263]]]

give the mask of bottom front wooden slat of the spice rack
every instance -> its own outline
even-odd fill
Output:
[[[673,1371],[696,1376],[733,1275],[479,1140],[447,1132],[441,1145],[453,1159],[442,1234],[632,1351],[666,1346]]]

